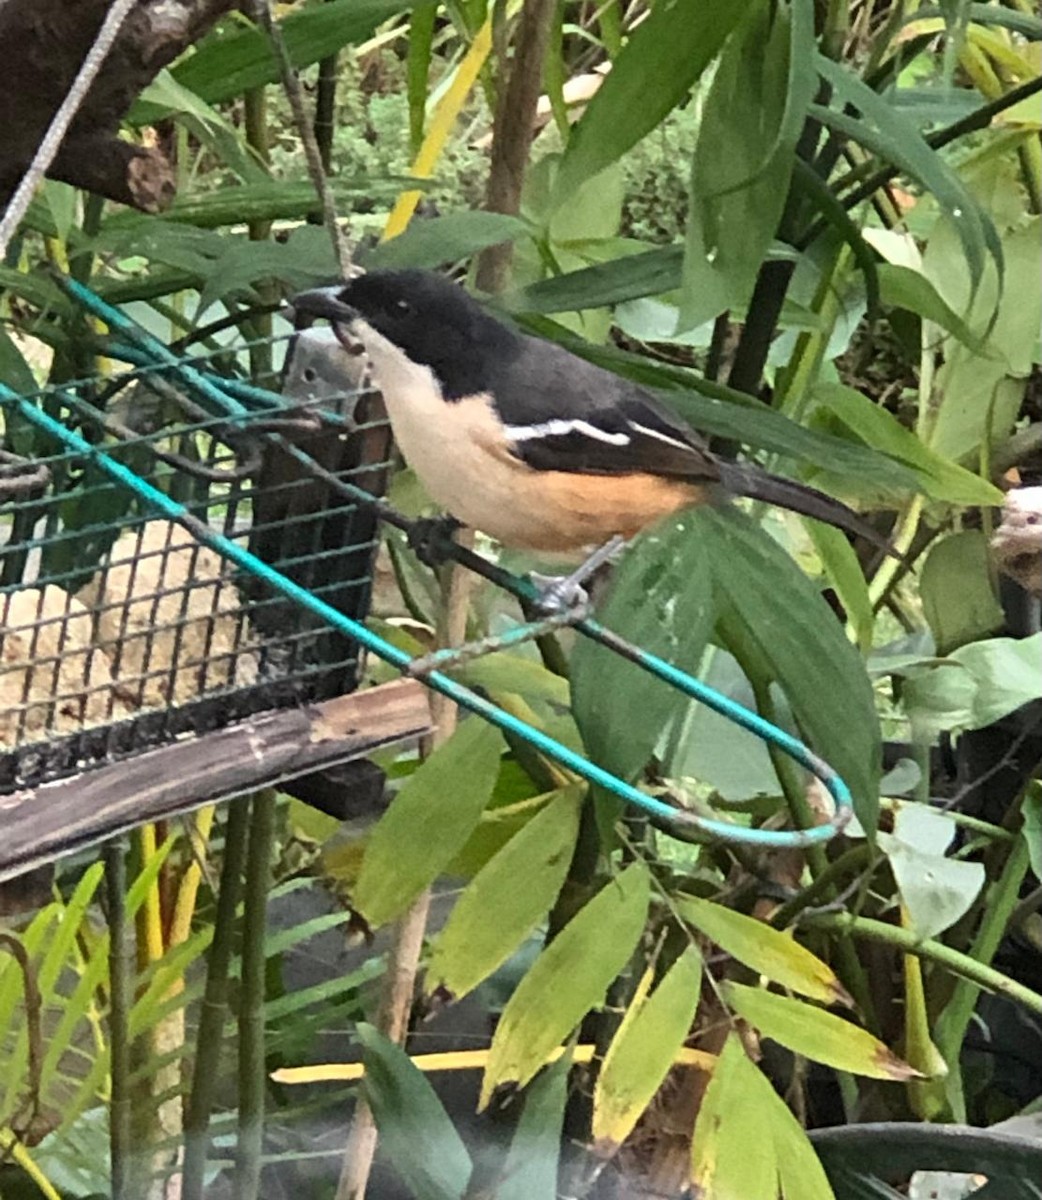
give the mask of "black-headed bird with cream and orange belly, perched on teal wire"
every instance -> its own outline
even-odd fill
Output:
[[[367,355],[406,463],[451,517],[505,547],[615,547],[719,496],[881,540],[833,497],[713,454],[647,389],[520,332],[438,272],[372,270],[289,304]]]

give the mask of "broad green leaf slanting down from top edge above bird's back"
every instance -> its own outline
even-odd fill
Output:
[[[555,186],[558,205],[688,96],[747,11],[748,6],[729,0],[701,0],[695,6],[660,0],[652,7],[573,126]]]

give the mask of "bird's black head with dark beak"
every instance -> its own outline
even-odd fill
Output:
[[[348,329],[361,318],[430,367],[447,400],[487,391],[516,338],[457,283],[433,271],[369,271],[339,290],[305,293],[293,306]]]

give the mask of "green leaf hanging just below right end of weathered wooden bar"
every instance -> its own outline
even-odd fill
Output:
[[[372,830],[354,889],[371,925],[401,916],[463,846],[492,794],[502,749],[496,730],[469,718],[402,785]]]

